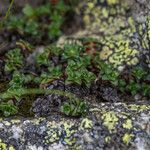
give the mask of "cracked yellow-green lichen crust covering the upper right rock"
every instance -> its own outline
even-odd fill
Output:
[[[139,49],[130,47],[132,44],[129,38],[131,33],[136,32],[136,24],[132,16],[126,15],[128,5],[120,0],[103,0],[100,3],[103,2],[108,6],[98,4],[97,0],[80,3],[78,13],[84,8],[82,14],[85,24],[82,36],[96,37],[99,33],[98,39],[104,39],[99,42],[103,45],[100,49],[100,59],[113,64],[115,68],[137,65],[140,63]],[[103,36],[100,36],[101,34]],[[145,35],[147,39],[147,34]],[[80,34],[78,36],[80,37]]]

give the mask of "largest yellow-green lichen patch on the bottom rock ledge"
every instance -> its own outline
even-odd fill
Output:
[[[110,111],[102,115],[103,124],[108,128],[109,131],[115,130],[118,124],[118,117],[115,112]]]

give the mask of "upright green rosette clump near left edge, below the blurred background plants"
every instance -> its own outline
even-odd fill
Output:
[[[5,60],[5,71],[6,72],[12,72],[17,69],[20,69],[23,65],[23,55],[21,54],[21,50],[16,48],[13,50],[10,50],[6,54],[6,60]]]

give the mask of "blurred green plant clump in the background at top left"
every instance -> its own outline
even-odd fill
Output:
[[[49,2],[37,8],[27,4],[21,15],[9,16],[5,25],[23,36],[34,39],[48,37],[53,40],[62,34],[61,26],[69,9],[63,0],[58,1],[57,5]]]

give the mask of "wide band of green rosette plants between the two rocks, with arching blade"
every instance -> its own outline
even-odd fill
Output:
[[[24,46],[23,46],[24,47]],[[50,84],[52,81],[64,78],[65,84],[77,84],[90,87],[95,80],[101,83],[109,82],[121,92],[137,93],[150,96],[150,76],[141,67],[134,67],[128,75],[125,71],[119,73],[109,64],[100,61],[99,55],[90,55],[86,47],[78,44],[67,44],[64,48],[54,45],[46,47],[42,53],[35,56],[35,72],[26,72],[26,55],[20,49],[10,50],[5,55],[5,72],[12,73],[5,93],[0,95],[0,111],[5,115],[14,115],[18,111],[17,103],[26,94],[58,94],[69,97],[67,102],[61,107],[61,112],[69,116],[81,116],[87,111],[87,104],[70,96],[64,91],[47,91],[43,85]],[[58,62],[54,63],[52,58],[57,57]],[[96,72],[91,69],[93,66]],[[30,68],[30,66],[28,66]],[[34,85],[34,84],[35,85]],[[33,84],[33,89],[29,90]],[[41,86],[42,85],[42,86]],[[46,87],[46,86],[44,86]],[[39,89],[37,89],[39,88]],[[5,101],[8,99],[8,101]],[[12,100],[14,103],[10,103]]]

